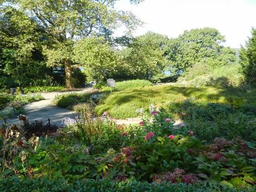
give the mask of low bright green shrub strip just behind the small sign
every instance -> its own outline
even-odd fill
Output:
[[[129,80],[116,82],[116,87],[113,88],[114,91],[125,90],[126,88],[136,88],[136,87],[147,87],[152,86],[152,83],[147,80]],[[103,90],[109,91],[110,87],[104,87]]]

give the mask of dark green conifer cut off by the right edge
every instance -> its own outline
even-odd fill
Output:
[[[239,52],[240,65],[245,76],[245,81],[256,85],[256,29],[252,29],[252,37],[241,47]]]

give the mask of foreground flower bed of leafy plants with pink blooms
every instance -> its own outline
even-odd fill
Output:
[[[116,125],[107,112],[95,117],[92,110],[85,110],[80,118],[63,122],[56,133],[40,137],[25,137],[24,126],[4,125],[1,173],[6,179],[0,185],[27,185],[27,178],[41,178],[43,183],[65,179],[66,188],[76,187],[81,179],[93,179],[82,181],[88,186],[95,179],[106,179],[106,185],[114,185],[117,191],[116,185],[129,191],[129,182],[157,190],[160,186],[168,190],[171,184],[185,191],[255,187],[255,138],[247,140],[247,135],[237,132],[229,139],[205,137],[203,141],[198,130],[186,124],[174,127],[172,113],[153,105],[140,111],[143,121],[134,127]]]

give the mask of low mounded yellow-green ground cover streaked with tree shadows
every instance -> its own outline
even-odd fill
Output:
[[[109,112],[112,117],[124,119],[136,117],[136,110],[146,109],[150,104],[168,106],[170,102],[192,99],[196,102],[233,105],[234,107],[255,107],[256,89],[242,90],[223,87],[181,87],[174,85],[159,85],[141,88],[127,88],[113,92],[95,108],[97,114]]]

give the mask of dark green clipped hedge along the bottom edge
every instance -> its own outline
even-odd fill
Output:
[[[30,192],[30,191],[44,191],[44,192],[61,192],[61,191],[120,191],[120,192],[208,192],[208,191],[223,191],[223,192],[245,192],[245,191],[255,191],[253,189],[229,189],[224,188],[220,189],[216,185],[208,185],[204,183],[198,183],[194,185],[186,184],[171,184],[171,183],[162,183],[157,185],[154,183],[142,183],[136,180],[126,180],[122,182],[118,181],[109,181],[106,179],[100,180],[77,180],[73,183],[68,183],[66,180],[47,180],[44,178],[40,179],[18,179],[18,178],[7,178],[0,179],[0,189],[2,192]]]

